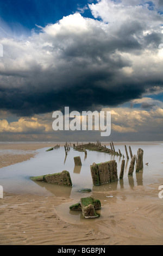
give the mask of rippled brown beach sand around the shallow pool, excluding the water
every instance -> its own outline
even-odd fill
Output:
[[[20,153],[1,151],[0,172],[3,167],[34,158],[37,149],[53,146],[54,143],[1,143],[2,151],[10,149]],[[58,211],[62,205],[68,207],[75,203],[76,198],[73,202],[64,194],[4,190],[0,198],[0,245],[162,245],[163,198],[158,196],[162,184],[163,178],[158,176],[148,186],[95,190],[93,196],[102,200],[101,216],[91,220],[80,216],[80,222],[68,220]],[[108,200],[107,204],[103,198]]]

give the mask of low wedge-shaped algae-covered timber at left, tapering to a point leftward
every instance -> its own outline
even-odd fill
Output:
[[[63,170],[60,173],[46,174],[41,176],[30,177],[33,181],[44,181],[52,184],[58,184],[63,186],[72,186],[71,176],[67,170]]]

